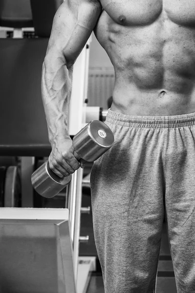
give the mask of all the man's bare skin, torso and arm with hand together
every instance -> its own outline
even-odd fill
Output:
[[[195,112],[194,0],[66,0],[55,15],[42,69],[50,168],[72,174],[67,117],[72,72],[94,30],[115,69],[113,111],[164,116]]]

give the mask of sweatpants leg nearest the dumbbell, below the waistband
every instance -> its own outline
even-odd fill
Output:
[[[106,124],[115,144],[91,172],[94,235],[104,289],[154,293],[164,217],[165,132],[111,120]]]

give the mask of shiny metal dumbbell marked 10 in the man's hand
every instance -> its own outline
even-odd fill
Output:
[[[111,129],[103,122],[94,120],[74,136],[73,154],[78,161],[94,162],[113,144],[114,135]],[[46,161],[32,174],[31,181],[40,195],[51,198],[70,183],[71,176],[60,178],[50,169]]]

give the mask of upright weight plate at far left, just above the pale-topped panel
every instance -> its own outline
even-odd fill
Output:
[[[20,207],[21,184],[17,166],[7,168],[4,189],[4,207]]]

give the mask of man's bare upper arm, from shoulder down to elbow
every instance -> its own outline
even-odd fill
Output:
[[[100,13],[99,0],[65,0],[54,17],[47,52],[59,52],[67,65],[74,64]]]

